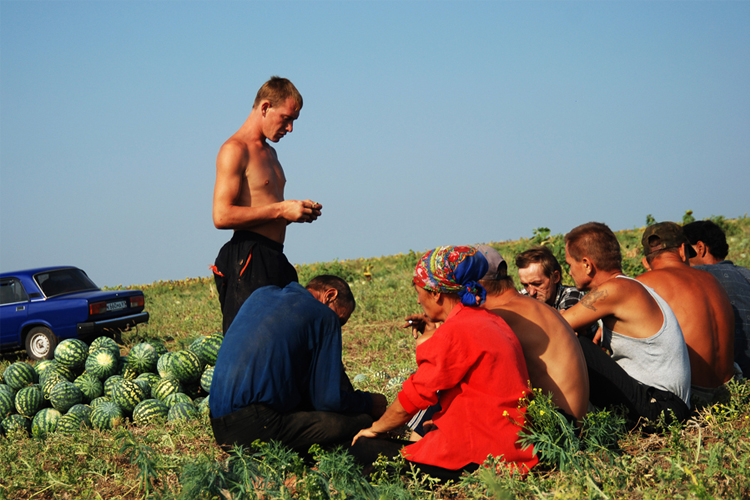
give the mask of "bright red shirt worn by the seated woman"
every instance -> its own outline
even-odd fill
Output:
[[[503,456],[530,469],[531,447],[516,444],[525,421],[519,400],[529,392],[521,345],[499,316],[481,308],[453,308],[445,323],[417,347],[417,372],[398,394],[410,414],[438,401],[436,429],[402,451],[408,460],[456,470]]]

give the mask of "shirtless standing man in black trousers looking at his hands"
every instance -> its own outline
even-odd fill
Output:
[[[283,254],[286,226],[320,216],[319,203],[284,200],[284,170],[267,142],[279,142],[291,132],[301,109],[302,96],[292,82],[271,77],[216,158],[214,226],[234,230],[212,268],[224,333],[255,289],[297,281],[297,271]]]

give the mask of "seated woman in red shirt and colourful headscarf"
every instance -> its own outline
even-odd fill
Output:
[[[488,455],[522,473],[537,463],[531,447],[516,443],[525,421],[519,401],[529,391],[521,346],[502,318],[477,307],[487,266],[468,246],[436,248],[417,264],[417,302],[429,321],[443,324],[417,346],[417,371],[385,414],[354,437],[350,452],[358,460],[369,465],[378,453],[400,450],[441,479],[475,470]],[[402,449],[405,442],[379,439],[438,402],[442,410],[421,440]]]

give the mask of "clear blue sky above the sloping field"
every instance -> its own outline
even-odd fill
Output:
[[[0,270],[208,276],[271,75],[293,263],[750,211],[749,2],[0,2]]]

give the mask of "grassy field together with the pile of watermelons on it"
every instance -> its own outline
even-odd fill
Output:
[[[750,267],[750,219],[713,219],[727,233],[729,260]],[[644,272],[642,231],[616,233],[632,276]],[[509,261],[516,284],[513,257],[532,245],[549,245],[565,267],[562,235],[546,228],[489,244]],[[356,388],[389,401],[416,369],[414,340],[402,325],[421,312],[411,285],[420,256],[410,250],[297,267],[303,284],[318,274],[350,283],[357,308],[343,329],[344,364]],[[61,343],[54,363],[3,353],[0,499],[750,498],[744,380],[721,403],[695,408],[685,424],[654,422],[655,434],[628,431],[617,411],[591,413],[575,433],[537,394],[520,439],[541,461],[526,478],[489,460],[459,483],[438,485],[383,460],[366,481],[341,450],[315,448],[314,463],[275,443],[227,454],[214,443],[206,404],[221,342],[213,279],[137,288],[151,320],[119,343]]]

